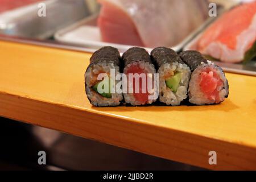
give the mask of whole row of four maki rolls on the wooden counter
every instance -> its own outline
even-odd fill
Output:
[[[229,94],[221,67],[200,52],[178,55],[166,47],[153,49],[151,55],[144,48],[133,47],[122,57],[118,49],[102,47],[90,58],[85,89],[94,106],[150,105],[158,98],[172,106],[187,100],[195,105],[211,105],[220,104]]]

